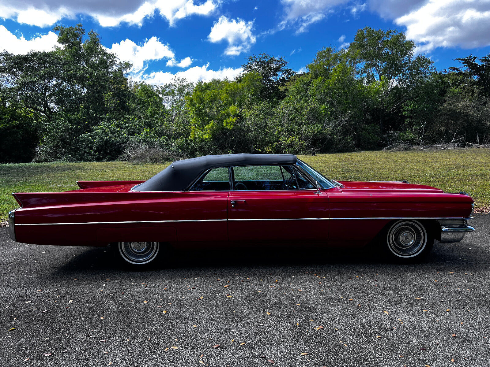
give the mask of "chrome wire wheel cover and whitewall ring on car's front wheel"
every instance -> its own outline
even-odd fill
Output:
[[[388,248],[398,257],[414,257],[427,244],[427,232],[417,221],[401,220],[388,231]]]

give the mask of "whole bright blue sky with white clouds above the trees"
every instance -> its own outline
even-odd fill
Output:
[[[54,25],[79,22],[153,84],[233,78],[261,52],[298,71],[365,26],[405,31],[437,69],[490,53],[490,0],[0,0],[0,49],[49,50]]]

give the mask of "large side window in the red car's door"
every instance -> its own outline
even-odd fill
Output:
[[[295,190],[296,180],[290,166],[233,167],[233,190]]]

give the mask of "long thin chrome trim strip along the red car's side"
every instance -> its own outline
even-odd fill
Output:
[[[72,222],[72,223],[23,223],[14,224],[15,226],[56,226],[56,225],[77,225],[77,224],[125,224],[125,223],[187,223],[187,222],[224,222],[224,221],[304,221],[304,220],[398,220],[398,219],[465,219],[462,217],[364,217],[364,218],[247,218],[247,219],[182,219],[164,221],[122,221],[122,222]],[[467,226],[469,227],[469,226]],[[473,228],[473,227],[471,227]],[[474,230],[474,229],[473,229]]]

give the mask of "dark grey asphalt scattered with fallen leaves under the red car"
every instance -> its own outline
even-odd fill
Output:
[[[263,248],[141,273],[2,228],[0,366],[490,366],[490,215],[472,225],[415,265]]]

